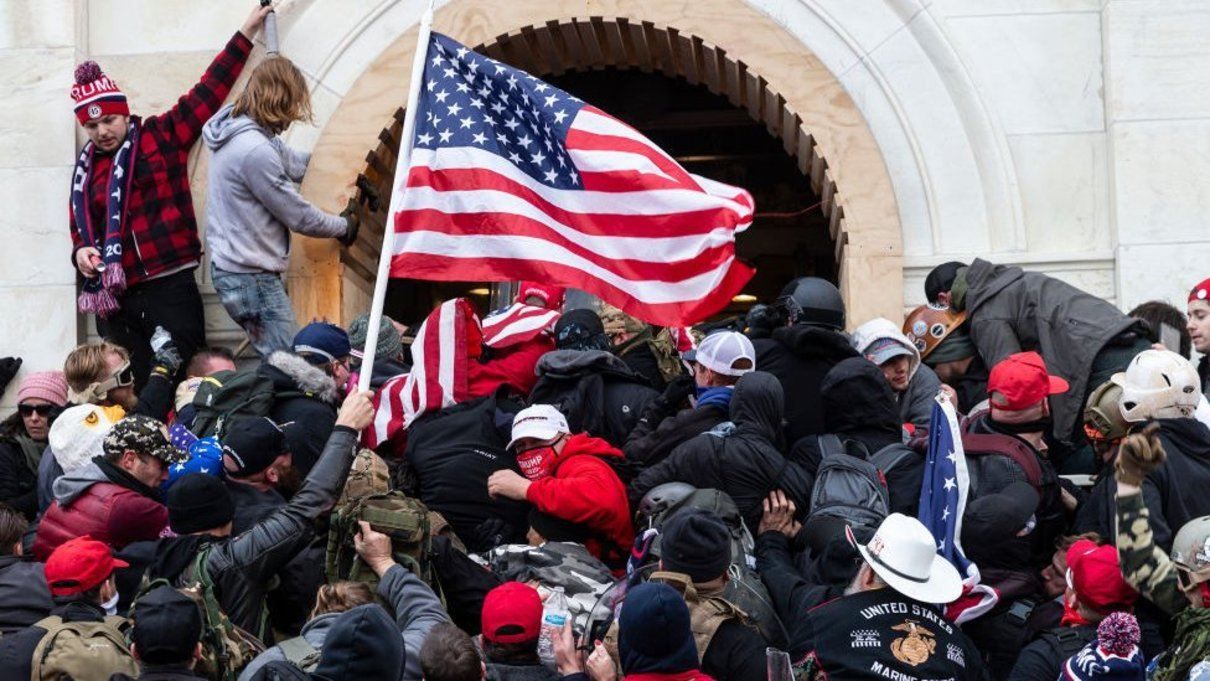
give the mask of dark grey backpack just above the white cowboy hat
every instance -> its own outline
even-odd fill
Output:
[[[911,448],[893,444],[869,454],[862,443],[818,435],[819,469],[811,490],[807,523],[839,518],[857,536],[871,536],[891,514],[886,473],[918,456]]]

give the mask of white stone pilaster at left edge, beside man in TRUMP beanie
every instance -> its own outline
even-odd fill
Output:
[[[68,192],[75,162],[73,0],[0,2],[0,356],[22,373],[62,369],[76,342]]]

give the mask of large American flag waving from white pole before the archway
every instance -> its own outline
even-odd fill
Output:
[[[391,201],[392,276],[552,282],[669,327],[718,312],[751,278],[734,253],[747,191],[444,35],[427,50]]]

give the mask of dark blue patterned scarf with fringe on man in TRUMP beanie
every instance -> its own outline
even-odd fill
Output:
[[[92,212],[88,209],[88,178],[92,174],[92,160],[96,145],[87,143],[76,160],[75,174],[71,178],[71,215],[80,235],[81,247],[91,246],[102,254],[104,267],[99,276],[86,278],[83,292],[80,293],[77,306],[80,312],[109,317],[117,312],[119,296],[126,290],[126,272],[122,271],[122,236],[126,227],[126,197],[129,195],[134,173],[134,157],[139,148],[139,125],[131,119],[126,131],[126,140],[114,154],[114,163],[109,169],[105,200],[104,233],[92,224]]]

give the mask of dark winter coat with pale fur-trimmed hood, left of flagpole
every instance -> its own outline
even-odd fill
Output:
[[[306,475],[336,425],[340,388],[323,369],[289,352],[270,354],[257,371],[272,379],[275,393],[304,393],[276,399],[269,417],[283,426],[294,467]]]

